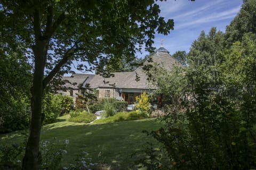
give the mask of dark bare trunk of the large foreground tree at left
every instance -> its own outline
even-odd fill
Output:
[[[42,42],[41,42],[42,43]],[[42,127],[42,98],[43,98],[43,76],[45,57],[45,44],[35,46],[35,70],[33,78],[33,87],[31,88],[31,123],[29,127],[29,137],[26,146],[25,157],[22,161],[22,169],[38,170],[41,161],[39,153],[39,140]]]

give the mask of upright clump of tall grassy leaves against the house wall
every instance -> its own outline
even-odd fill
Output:
[[[103,117],[109,117],[116,114],[116,104],[114,98],[104,98],[102,99],[102,110]]]

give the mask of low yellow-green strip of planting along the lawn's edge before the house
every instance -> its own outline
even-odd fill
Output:
[[[114,116],[110,116],[103,119],[95,120],[94,123],[111,123],[111,122],[121,122],[126,120],[139,120],[148,118],[148,115],[145,112],[140,110],[133,110],[130,112],[118,112]]]

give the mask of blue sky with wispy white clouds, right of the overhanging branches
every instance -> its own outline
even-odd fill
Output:
[[[167,0],[158,4],[162,17],[174,19],[174,30],[167,36],[156,35],[154,47],[161,47],[164,39],[163,46],[173,54],[176,51],[189,52],[202,30],[208,34],[212,27],[217,27],[225,32],[226,26],[241,9],[243,0]]]

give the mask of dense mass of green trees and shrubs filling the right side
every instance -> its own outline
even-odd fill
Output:
[[[187,67],[151,72],[152,82],[158,80],[156,93],[172,102],[161,118],[166,126],[146,132],[163,147],[148,145],[139,167],[256,168],[256,32],[250,20],[255,3],[244,2],[226,35],[216,28],[202,32],[190,48]]]

